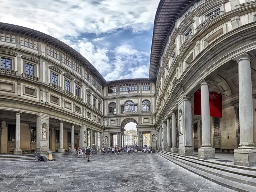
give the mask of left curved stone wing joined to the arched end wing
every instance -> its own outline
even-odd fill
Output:
[[[123,134],[128,122],[136,122],[141,134],[156,134],[149,79],[106,82],[81,54],[33,29],[0,23],[0,36],[0,153],[110,147],[110,135]],[[108,93],[109,85],[117,86],[116,94]],[[128,100],[133,104],[121,114]],[[110,102],[116,114],[109,114]]]

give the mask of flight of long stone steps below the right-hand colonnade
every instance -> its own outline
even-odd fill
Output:
[[[239,192],[256,192],[256,169],[225,165],[164,151],[156,153],[207,180]]]

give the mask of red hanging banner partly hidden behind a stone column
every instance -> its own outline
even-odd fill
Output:
[[[209,92],[210,116],[222,118],[222,95]],[[201,90],[194,93],[194,114],[202,115],[201,111]]]

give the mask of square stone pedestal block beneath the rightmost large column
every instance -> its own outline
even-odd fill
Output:
[[[256,165],[256,148],[234,149],[234,164],[250,167]]]

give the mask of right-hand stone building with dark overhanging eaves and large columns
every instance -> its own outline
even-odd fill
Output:
[[[156,81],[158,149],[198,150],[200,159],[234,152],[236,165],[255,165],[256,2],[183,3],[161,0],[155,18],[149,78]],[[195,115],[197,90],[202,115]],[[212,92],[222,97],[222,118],[210,116]]]

